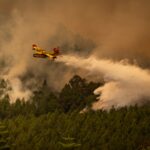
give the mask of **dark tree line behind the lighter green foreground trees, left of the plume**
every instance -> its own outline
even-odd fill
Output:
[[[95,88],[100,83],[87,82],[80,76],[75,75],[67,83],[60,93],[51,90],[46,80],[39,89],[33,92],[33,96],[25,101],[17,99],[15,103],[10,103],[8,95],[0,100],[0,118],[11,118],[17,115],[34,114],[39,116],[49,112],[70,112],[81,111],[85,107],[90,107],[96,96],[93,94]],[[4,80],[0,82],[0,91],[6,89],[7,84]]]

